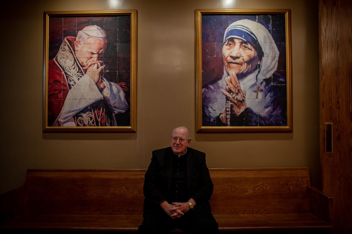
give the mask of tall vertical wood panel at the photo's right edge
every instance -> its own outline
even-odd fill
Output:
[[[334,232],[352,232],[352,1],[319,0],[319,105],[322,190],[334,198]],[[325,122],[333,153],[325,153]]]

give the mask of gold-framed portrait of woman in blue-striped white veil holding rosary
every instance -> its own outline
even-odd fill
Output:
[[[289,9],[197,9],[197,132],[291,132]]]

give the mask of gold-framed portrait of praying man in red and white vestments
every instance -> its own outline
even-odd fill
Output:
[[[44,132],[136,132],[137,11],[44,12]]]

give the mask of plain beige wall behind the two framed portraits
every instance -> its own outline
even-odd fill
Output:
[[[319,185],[316,1],[12,2],[1,16],[0,194],[22,185],[26,168],[146,168],[176,125],[189,126],[210,168],[308,166]],[[293,133],[195,133],[194,10],[207,8],[291,9]],[[43,12],[106,9],[138,10],[137,133],[43,133]]]

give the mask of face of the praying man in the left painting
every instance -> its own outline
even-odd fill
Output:
[[[89,62],[98,61],[102,58],[106,44],[103,40],[90,37],[82,42],[75,41],[75,55],[83,67],[86,67]]]

